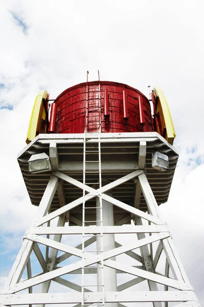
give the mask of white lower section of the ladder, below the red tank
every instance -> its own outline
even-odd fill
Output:
[[[84,297],[84,293],[85,293],[85,289],[86,287],[93,287],[93,291],[94,289],[97,287],[97,292],[101,292],[101,300],[97,303],[92,303],[91,305],[105,305],[105,295],[104,295],[104,261],[103,259],[100,261],[100,264],[97,265],[97,267],[94,266],[94,268],[97,268],[97,274],[100,275],[100,283],[96,283],[96,284],[85,284],[84,282],[84,274],[86,274],[86,270],[88,270],[89,268],[93,268],[93,266],[84,266],[84,261],[86,256],[88,257],[88,253],[93,253],[96,252],[97,254],[103,253],[103,212],[102,212],[102,197],[101,197],[101,187],[102,187],[102,180],[101,180],[101,143],[100,143],[100,131],[98,133],[95,133],[95,135],[97,135],[98,140],[96,143],[90,143],[88,142],[89,140],[89,136],[92,135],[93,133],[86,133],[84,132],[84,144],[83,144],[83,185],[96,185],[97,188],[99,189],[99,194],[98,194],[98,198],[99,198],[99,205],[97,206],[97,202],[95,203],[95,207],[90,207],[89,205],[86,206],[86,191],[83,188],[83,209],[82,209],[82,304],[81,306],[88,306],[90,305],[90,303],[86,303],[85,301],[85,297]],[[89,144],[95,144],[94,146],[94,150],[92,150],[92,148],[87,147],[87,143]],[[98,145],[98,146],[97,146]],[[98,156],[98,160],[95,161],[93,159],[93,154],[94,156]],[[90,157],[90,158],[89,158]],[[89,165],[97,165],[96,168],[90,167],[90,170],[87,170],[87,163]],[[96,182],[94,182],[93,180],[90,180],[90,177],[92,178],[94,175],[94,178],[97,180]],[[89,177],[89,178],[88,178]],[[90,182],[90,181],[91,182]],[[87,216],[87,210],[88,209],[96,209],[100,211],[100,215],[98,214],[98,218],[95,219],[95,221],[88,221],[86,220],[86,216]],[[98,212],[99,212],[98,211]],[[97,213],[96,213],[97,216]],[[89,223],[96,223],[97,226],[100,226],[101,232],[99,234],[85,234],[84,233],[84,227]],[[89,250],[89,251],[85,251],[85,238],[86,237],[90,237],[90,236],[97,236],[100,237],[100,249],[98,249],[96,247],[96,250]],[[97,244],[98,246],[98,244]],[[99,273],[100,271],[100,273]],[[96,291],[96,290],[95,290]],[[94,291],[94,292],[95,292]]]

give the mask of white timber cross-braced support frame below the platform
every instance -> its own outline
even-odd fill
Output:
[[[143,191],[145,200],[147,202],[148,206],[148,213],[144,213],[140,211],[137,208],[131,207],[123,202],[120,202],[107,194],[105,194],[106,191],[128,181],[131,179],[134,179],[135,177],[139,178],[140,186]],[[11,273],[8,277],[4,294],[0,296],[0,301],[3,305],[17,305],[17,304],[53,304],[53,303],[76,303],[80,304],[81,302],[81,296],[80,294],[65,294],[65,293],[58,293],[58,294],[49,294],[49,293],[41,293],[41,294],[32,294],[32,287],[36,284],[42,283],[42,282],[48,282],[50,283],[51,280],[55,280],[56,282],[63,283],[66,287],[72,288],[76,291],[80,291],[80,287],[77,284],[71,283],[67,280],[64,280],[61,278],[61,275],[75,272],[77,270],[80,270],[82,268],[82,261],[78,261],[74,264],[64,266],[62,268],[58,268],[57,270],[51,270],[47,273],[37,275],[35,277],[31,277],[30,272],[30,254],[32,250],[37,255],[37,258],[40,262],[40,265],[42,269],[44,270],[46,261],[43,259],[43,256],[38,248],[37,243],[41,243],[43,245],[49,246],[52,249],[64,251],[66,254],[76,255],[78,257],[81,257],[81,251],[78,248],[73,248],[71,246],[67,246],[65,244],[62,244],[60,242],[56,242],[54,240],[51,240],[49,238],[40,237],[39,234],[55,234],[55,236],[61,236],[62,234],[68,233],[68,228],[65,230],[63,227],[63,222],[61,221],[62,216],[64,216],[64,213],[69,212],[72,208],[80,205],[83,202],[82,198],[79,198],[76,201],[73,201],[70,204],[64,205],[63,207],[57,209],[56,211],[49,213],[48,210],[50,208],[50,205],[52,203],[53,196],[57,190],[59,179],[64,180],[66,182],[69,182],[81,189],[83,189],[83,185],[81,182],[66,176],[63,173],[60,173],[59,171],[54,171],[52,173],[52,176],[50,178],[50,181],[47,185],[46,190],[44,191],[42,200],[40,202],[39,208],[37,210],[37,214],[34,218],[33,223],[28,228],[25,237],[24,242],[22,244],[22,247],[18,253],[18,256],[16,258],[16,261],[14,262],[13,268],[11,270]],[[89,192],[86,195],[87,199],[92,199],[96,197],[99,193],[97,189],[91,188],[89,186],[84,186],[85,190]],[[161,283],[165,285],[166,289],[167,287],[172,287],[174,289],[177,289],[179,291],[144,291],[144,292],[108,292],[105,294],[105,302],[168,302],[168,301],[177,301],[177,302],[184,302],[186,301],[186,305],[188,306],[199,306],[199,303],[197,302],[196,296],[194,294],[193,289],[191,288],[188,278],[184,272],[184,269],[182,265],[180,264],[180,261],[176,255],[175,249],[172,245],[172,239],[170,236],[170,233],[168,231],[168,228],[164,221],[161,220],[160,215],[157,210],[157,203],[155,201],[154,195],[151,191],[151,188],[149,186],[149,183],[147,181],[147,178],[145,176],[145,173],[143,170],[136,170],[134,172],[131,172],[130,174],[114,181],[106,186],[102,187],[102,198],[103,200],[106,200],[123,210],[126,210],[130,212],[135,218],[144,218],[145,220],[151,222],[153,225],[143,226],[143,225],[125,225],[123,227],[121,226],[109,226],[109,227],[103,227],[103,233],[138,233],[140,239],[137,242],[133,242],[128,245],[120,246],[114,250],[103,252],[100,255],[92,255],[89,254],[85,260],[85,264],[83,266],[96,264],[97,262],[100,262],[100,260],[103,258],[105,260],[104,265],[114,268],[116,270],[129,273],[133,276],[137,276],[137,278],[132,279],[128,283],[124,283],[123,285],[119,286],[119,291],[122,291],[124,289],[127,289],[128,287],[131,287],[132,284],[137,284],[138,282],[143,281],[144,279],[147,279],[153,283]],[[61,217],[60,217],[61,216]],[[59,224],[58,227],[40,227],[41,225],[51,221],[53,218],[58,217],[59,218]],[[61,221],[61,222],[60,222]],[[62,223],[62,224],[60,224]],[[100,232],[100,230],[96,229],[95,227],[94,231],[97,233]],[[88,227],[85,227],[85,233],[90,233],[91,230],[88,229]],[[152,233],[151,236],[145,237],[144,233]],[[80,227],[69,227],[69,233],[81,233]],[[93,230],[92,230],[93,233]],[[140,235],[142,234],[142,236]],[[60,241],[60,240],[58,240]],[[130,253],[135,248],[143,248],[147,244],[151,244],[153,242],[162,242],[158,245],[158,252],[155,254],[155,258],[153,259],[153,265],[156,266],[156,263],[159,258],[160,249],[163,248],[168,260],[168,264],[174,274],[174,278],[168,278],[166,276],[161,276],[152,272],[145,271],[141,268],[137,267],[131,267],[129,265],[125,265],[123,263],[120,263],[119,261],[111,260],[110,258],[120,255],[122,253]],[[90,243],[91,244],[91,243]],[[132,252],[132,254],[134,254]],[[137,254],[135,254],[137,255]],[[139,255],[138,255],[139,256]],[[54,262],[57,259],[57,253],[54,255]],[[24,271],[25,267],[28,266],[29,276],[27,280],[19,282],[22,272]],[[53,264],[54,267],[54,264]],[[46,283],[45,283],[46,284]],[[24,289],[29,289],[29,294],[17,294],[14,295],[14,293],[19,292]],[[49,287],[44,287],[44,291],[48,291]],[[86,290],[88,292],[88,290]],[[93,293],[86,293],[86,300],[87,302],[94,303],[100,301],[100,293],[93,292]],[[52,297],[52,299],[51,299]],[[160,304],[155,304],[156,306],[160,306]],[[180,304],[180,306],[183,306],[183,303]]]

